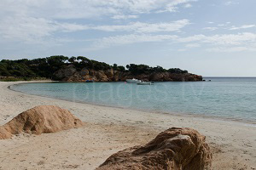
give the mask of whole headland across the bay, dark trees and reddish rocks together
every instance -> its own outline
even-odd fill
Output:
[[[133,77],[154,82],[202,81],[201,76],[178,68],[166,70],[161,66],[108,65],[84,56],[68,58],[63,55],[39,59],[3,59],[0,61],[0,76],[46,77],[67,82],[118,82]]]

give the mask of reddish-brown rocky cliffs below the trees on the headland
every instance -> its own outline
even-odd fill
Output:
[[[148,74],[131,74],[131,71],[95,71],[83,68],[80,71],[74,65],[67,65],[55,71],[54,80],[63,82],[123,82],[126,79],[137,78],[151,82],[196,82],[202,77],[191,73],[151,72]]]

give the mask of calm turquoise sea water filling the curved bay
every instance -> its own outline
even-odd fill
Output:
[[[256,78],[205,78],[211,82],[27,83],[12,88],[26,93],[143,111],[211,116],[256,123]],[[149,114],[149,113],[148,113]]]

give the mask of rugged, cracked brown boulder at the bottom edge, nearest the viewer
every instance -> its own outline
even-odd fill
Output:
[[[206,137],[191,128],[172,127],[148,144],[119,151],[97,170],[203,170],[211,166]]]

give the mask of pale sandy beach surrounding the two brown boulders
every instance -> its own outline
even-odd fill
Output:
[[[191,116],[171,116],[49,99],[8,89],[0,82],[0,124],[36,105],[59,105],[84,127],[0,140],[0,169],[94,169],[108,156],[144,144],[169,127],[192,127],[207,136],[212,169],[256,169],[256,127]]]

